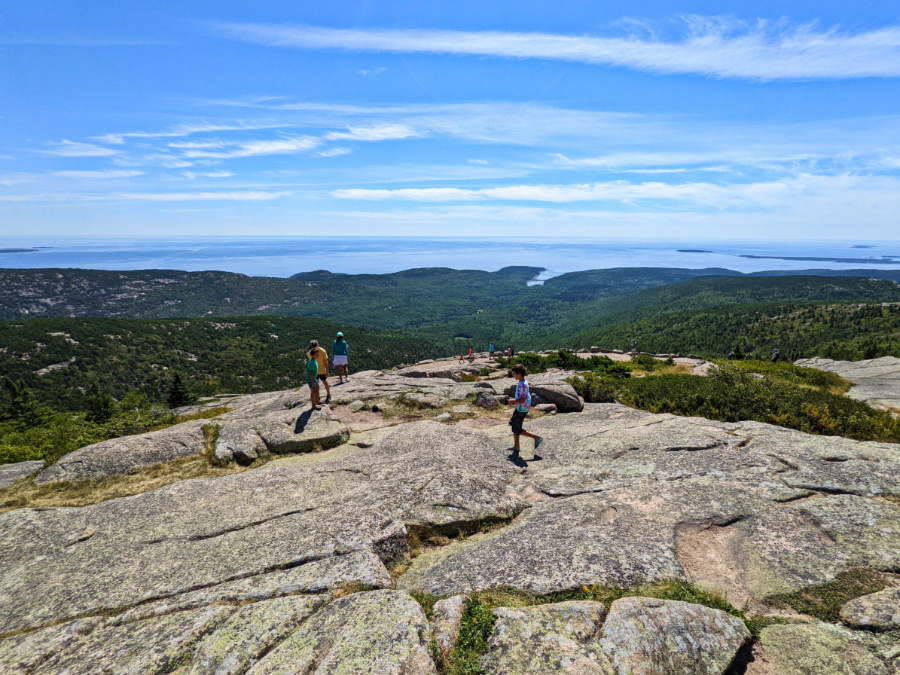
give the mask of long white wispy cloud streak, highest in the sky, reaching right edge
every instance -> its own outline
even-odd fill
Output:
[[[350,30],[220,23],[230,39],[273,47],[551,59],[662,74],[756,80],[900,76],[900,26],[848,32],[689,17],[675,41],[634,35],[443,30]]]

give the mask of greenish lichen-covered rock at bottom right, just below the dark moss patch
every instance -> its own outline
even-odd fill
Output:
[[[768,626],[760,656],[776,675],[890,675],[885,662],[852,631],[827,623]],[[896,671],[894,671],[896,672]]]

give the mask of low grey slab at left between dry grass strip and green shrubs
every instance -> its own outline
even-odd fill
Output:
[[[50,483],[119,476],[142,466],[200,454],[204,450],[202,427],[207,423],[209,420],[183,422],[160,431],[88,445],[60,458],[41,471],[35,481]]]

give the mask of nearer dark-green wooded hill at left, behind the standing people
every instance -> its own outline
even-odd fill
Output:
[[[176,372],[201,395],[274,391],[301,385],[309,341],[330,356],[339,330],[354,372],[445,355],[427,340],[315,318],[35,319],[0,323],[0,373],[68,410],[85,408],[93,382],[119,400],[164,401]]]

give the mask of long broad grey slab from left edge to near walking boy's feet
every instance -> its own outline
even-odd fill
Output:
[[[80,509],[0,515],[0,632],[128,608],[357,552],[396,559],[403,523],[511,517],[515,467],[490,438],[437,422],[365,452],[269,464]],[[94,528],[89,539],[73,535]]]

